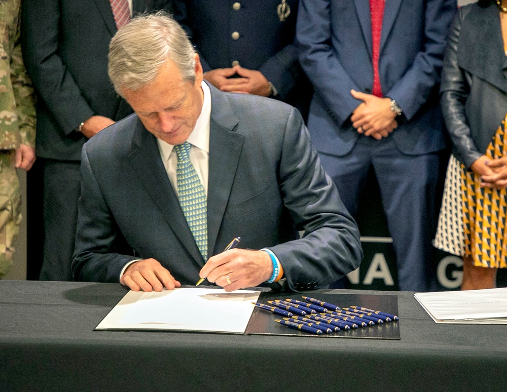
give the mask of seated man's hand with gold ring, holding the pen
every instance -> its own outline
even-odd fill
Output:
[[[272,274],[273,263],[267,252],[246,249],[231,249],[210,257],[199,272],[201,278],[222,286],[225,291],[259,286]]]

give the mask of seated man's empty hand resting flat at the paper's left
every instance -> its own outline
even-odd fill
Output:
[[[155,259],[140,260],[130,264],[120,278],[120,283],[128,286],[132,291],[146,292],[162,291],[164,287],[167,290],[173,290],[181,286]]]

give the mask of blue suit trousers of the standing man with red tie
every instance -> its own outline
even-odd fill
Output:
[[[377,141],[360,136],[349,154],[321,153],[320,158],[353,216],[373,166],[396,254],[398,286],[402,291],[428,291],[443,154],[405,155],[391,137]]]

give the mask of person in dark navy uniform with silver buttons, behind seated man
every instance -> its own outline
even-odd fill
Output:
[[[271,97],[308,115],[311,84],[294,45],[298,0],[175,0],[204,80],[222,91]]]

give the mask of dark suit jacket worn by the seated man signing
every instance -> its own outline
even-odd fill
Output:
[[[289,290],[327,285],[362,258],[359,232],[320,166],[294,108],[211,89],[208,254],[235,237],[270,249]],[[204,260],[164,169],[156,138],[133,114],[83,147],[74,277],[118,282],[123,266],[155,258],[182,284]],[[298,238],[304,230],[304,238]]]

